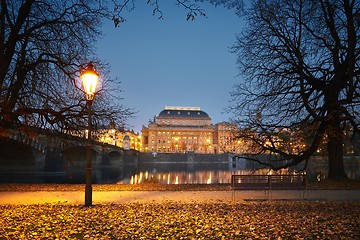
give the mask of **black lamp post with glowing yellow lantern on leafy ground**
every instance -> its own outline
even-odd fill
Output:
[[[99,74],[95,71],[92,63],[89,63],[85,71],[81,73],[80,78],[85,92],[86,105],[88,111],[88,134],[86,144],[86,185],[85,185],[85,206],[92,205],[92,186],[91,186],[91,105],[95,97],[96,86],[99,80]]]

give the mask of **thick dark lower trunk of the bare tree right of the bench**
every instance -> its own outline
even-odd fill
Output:
[[[343,132],[340,127],[340,121],[334,119],[328,132],[328,161],[329,172],[328,179],[345,180],[347,179],[344,169],[344,154],[343,154]]]

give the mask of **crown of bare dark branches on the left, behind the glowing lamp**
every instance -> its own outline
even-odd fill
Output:
[[[94,52],[108,10],[93,1],[2,0],[0,5],[0,128],[53,130],[86,126],[79,75],[89,61],[101,75],[95,122],[125,122],[133,110]],[[115,87],[114,87],[115,86]],[[34,128],[29,128],[34,129]]]

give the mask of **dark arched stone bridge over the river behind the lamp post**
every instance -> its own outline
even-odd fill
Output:
[[[86,164],[87,140],[66,134],[47,132],[30,137],[13,133],[0,136],[0,174],[26,172],[63,172]],[[122,148],[92,141],[92,163],[120,165],[124,159],[136,160],[137,154]],[[129,159],[129,156],[131,155]]]

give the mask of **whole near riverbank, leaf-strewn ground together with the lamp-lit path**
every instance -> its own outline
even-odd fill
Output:
[[[309,184],[307,199],[274,191],[271,201],[237,191],[233,201],[228,184],[95,184],[84,207],[83,184],[0,184],[0,239],[359,239],[358,186]]]

